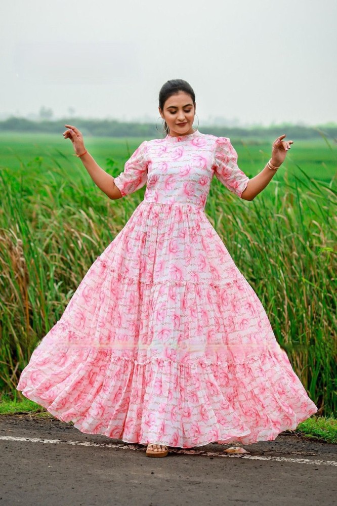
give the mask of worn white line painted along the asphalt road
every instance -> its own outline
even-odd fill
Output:
[[[40,438],[20,438],[14,436],[0,436],[0,440],[3,441],[29,441],[31,443],[61,443],[61,444],[72,444],[78,446],[103,446],[106,448],[123,448],[125,450],[145,450],[139,446],[132,444],[115,444],[115,443],[90,443],[89,441],[62,441],[61,439],[40,439]],[[176,450],[174,448],[168,449],[169,453],[184,453],[185,455],[206,455],[210,457],[226,457],[226,458],[249,458],[251,460],[276,460],[277,462],[296,462],[298,464],[314,464],[315,466],[337,466],[337,462],[334,460],[311,460],[309,458],[288,458],[288,457],[276,457],[276,456],[265,456],[265,455],[246,455],[246,454],[235,454],[235,453],[216,453],[212,451],[202,450],[189,450],[181,449]]]

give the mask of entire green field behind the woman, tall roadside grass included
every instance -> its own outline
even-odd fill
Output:
[[[85,144],[115,177],[143,140],[88,137]],[[318,414],[333,416],[337,148],[326,139],[292,140],[286,161],[253,201],[214,178],[205,213],[258,294]],[[231,138],[250,178],[270,158],[272,141]],[[0,390],[16,401],[22,399],[15,385],[32,350],[145,188],[109,200],[62,132],[1,134],[0,175]]]

